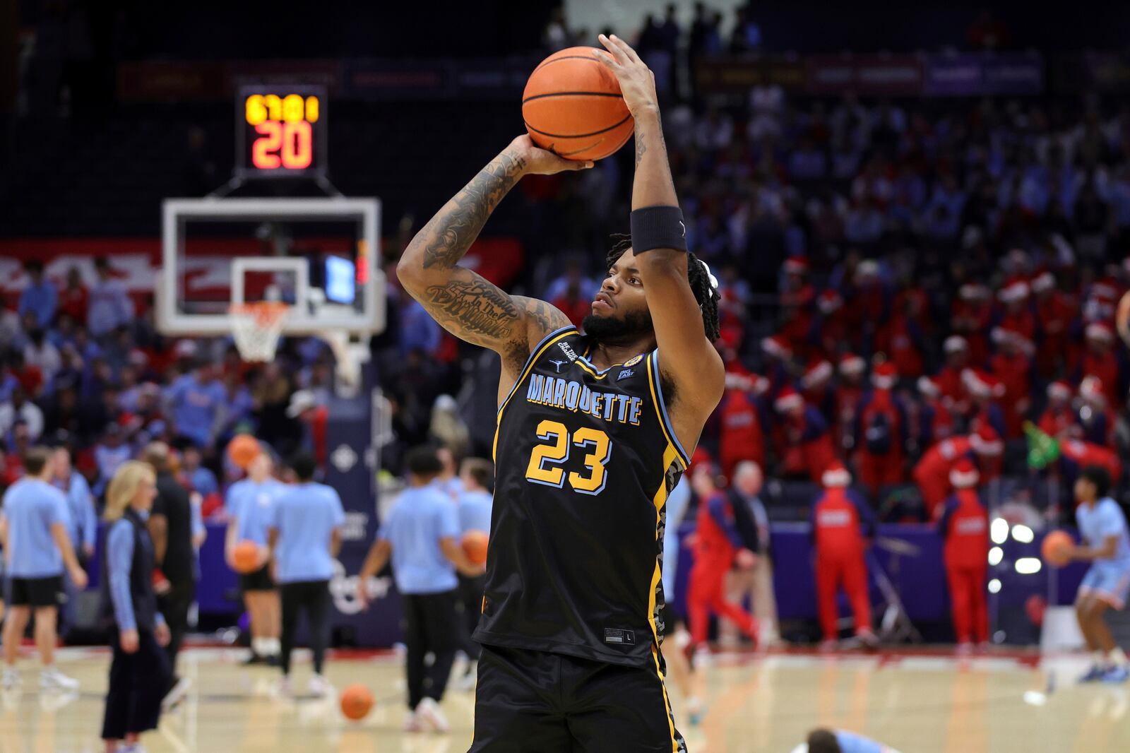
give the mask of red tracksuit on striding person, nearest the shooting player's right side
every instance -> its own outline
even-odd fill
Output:
[[[733,508],[725,494],[715,492],[698,505],[698,529],[695,543],[695,564],[690,569],[687,587],[687,618],[690,640],[706,640],[710,613],[722,615],[741,632],[756,640],[757,622],[737,604],[725,600],[725,573],[730,571],[733,555],[741,547],[741,537],[733,523]]]

